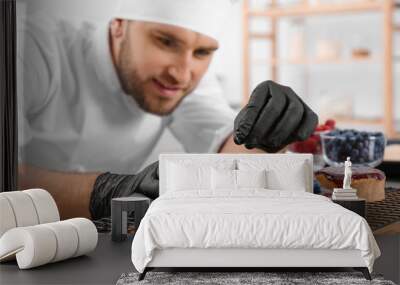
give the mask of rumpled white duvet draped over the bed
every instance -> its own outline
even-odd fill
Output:
[[[359,215],[320,195],[265,189],[162,195],[133,240],[135,268],[143,272],[165,248],[358,249],[370,271],[380,255]]]

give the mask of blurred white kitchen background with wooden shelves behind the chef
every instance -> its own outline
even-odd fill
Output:
[[[233,2],[212,66],[233,108],[239,110],[259,82],[272,79],[291,86],[321,122],[333,118],[340,128],[380,130],[393,143],[400,138],[400,3]],[[18,0],[17,13],[104,20],[115,3]],[[399,145],[391,147],[386,159],[400,161]],[[148,162],[157,160],[160,152],[181,151],[166,132]]]

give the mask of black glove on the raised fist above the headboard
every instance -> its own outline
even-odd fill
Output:
[[[246,148],[277,152],[294,141],[306,140],[318,116],[287,86],[260,83],[234,123],[234,141]]]

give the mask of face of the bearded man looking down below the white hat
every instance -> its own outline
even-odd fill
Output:
[[[198,85],[218,48],[202,34],[142,21],[114,20],[111,41],[124,92],[157,115],[170,114]]]

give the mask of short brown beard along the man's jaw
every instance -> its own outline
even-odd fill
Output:
[[[129,40],[124,40],[121,43],[120,56],[116,64],[117,75],[124,93],[133,97],[139,107],[145,112],[159,116],[167,116],[171,114],[193,90],[193,88],[190,90],[189,88],[182,90],[183,94],[179,95],[178,99],[163,98],[155,94],[146,93],[144,85],[145,83],[151,83],[152,79],[148,79],[148,81],[141,80],[131,59]]]

